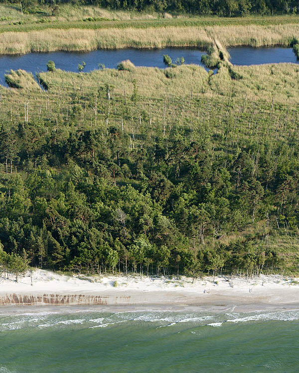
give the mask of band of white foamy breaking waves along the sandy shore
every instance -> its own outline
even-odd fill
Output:
[[[190,328],[212,326],[226,323],[263,322],[269,320],[299,320],[299,310],[247,313],[208,314],[204,312],[186,313],[180,311],[127,311],[127,312],[27,312],[0,319],[0,332],[28,328],[106,328],[124,323],[150,323],[155,329],[190,325]],[[2,369],[2,368],[1,368]],[[3,371],[4,372],[4,371]],[[1,371],[0,371],[1,373]]]

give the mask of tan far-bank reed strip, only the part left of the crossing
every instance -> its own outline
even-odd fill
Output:
[[[199,27],[161,27],[147,29],[99,29],[7,32],[1,34],[1,54],[50,51],[91,51],[116,48],[161,48],[194,46],[206,48],[212,38]]]

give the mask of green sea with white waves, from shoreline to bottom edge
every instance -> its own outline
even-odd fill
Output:
[[[299,372],[299,311],[0,316],[2,373]]]

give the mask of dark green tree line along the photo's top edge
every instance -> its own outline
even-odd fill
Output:
[[[19,3],[19,1],[1,0],[0,2]],[[218,16],[245,16],[248,14],[297,14],[297,0],[38,0],[40,4],[70,2],[73,5],[97,5],[109,9],[137,11],[169,11],[174,14],[200,14]],[[36,0],[22,0],[26,9],[36,3]]]

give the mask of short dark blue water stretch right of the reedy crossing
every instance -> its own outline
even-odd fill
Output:
[[[291,62],[298,64],[299,60],[292,48],[253,48],[253,47],[233,47],[228,48],[228,53],[233,65],[261,65],[277,64],[280,62]]]

